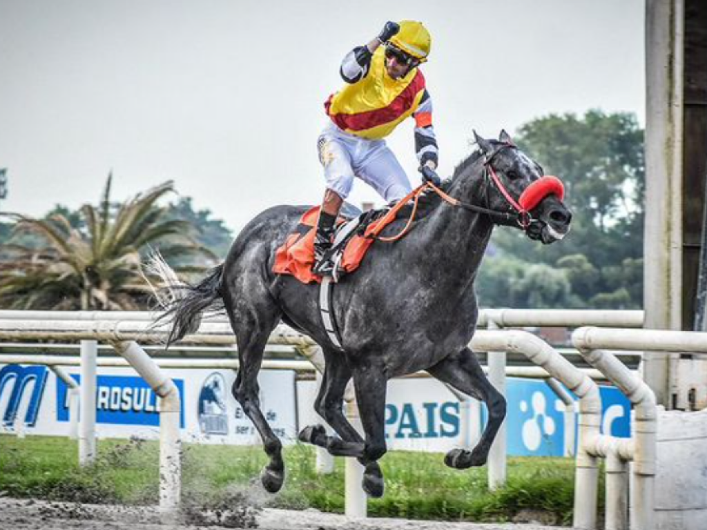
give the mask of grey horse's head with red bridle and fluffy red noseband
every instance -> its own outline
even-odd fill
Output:
[[[476,131],[474,136],[484,157],[486,207],[505,214],[496,222],[515,225],[546,245],[565,237],[572,213],[562,202],[560,180],[544,175],[506,131],[501,131],[498,141],[481,138]]]

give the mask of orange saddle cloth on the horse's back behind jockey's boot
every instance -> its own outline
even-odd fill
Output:
[[[275,252],[275,264],[272,268],[276,274],[291,274],[303,283],[321,283],[322,277],[312,273],[314,264],[314,239],[317,232],[320,206],[310,208],[301,218],[297,228],[287,236],[284,244]],[[368,225],[361,225],[353,235],[344,242],[344,254],[339,261],[340,275],[351,273],[361,265],[366,251],[373,244],[378,232],[395,219],[397,208],[388,211]],[[343,224],[339,218],[337,225]]]

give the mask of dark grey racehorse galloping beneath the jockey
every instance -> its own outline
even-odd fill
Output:
[[[484,401],[489,420],[477,446],[452,449],[445,464],[465,469],[486,463],[506,416],[506,401],[468,346],[477,324],[474,279],[481,258],[494,225],[520,228],[548,244],[566,235],[571,213],[557,192],[540,196],[527,211],[520,207],[524,190],[543,177],[542,168],[505,131],[498,141],[474,135],[479,150],[442,185],[451,201],[426,194],[408,235],[396,242],[374,242],[360,268],[336,283],[332,311],[344,351],[331,343],[323,327],[318,285],[272,272],[276,249],[309,206],[275,206],[260,213],[240,232],[223,264],[175,297],[167,313],[170,343],[195,331],[202,312],[222,307],[228,314],[240,360],[233,396],[262,437],[269,463],[261,480],[269,492],[281,488],[285,467],[282,444],[260,410],[257,375],[268,338],[281,321],[316,341],[326,360],[315,410],[337,436],[312,425],[299,439],[359,459],[369,495],[380,497],[384,489],[378,459],[387,450],[385,398],[392,377],[426,370]],[[406,222],[399,216],[382,235],[397,234]],[[363,437],[342,412],[351,378]]]

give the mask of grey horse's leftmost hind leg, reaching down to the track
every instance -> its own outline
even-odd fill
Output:
[[[263,296],[254,300],[257,294],[254,291],[257,289],[252,289],[248,294],[250,303],[243,299],[238,302],[231,300],[226,302],[226,310],[238,343],[240,365],[233,383],[233,397],[255,425],[265,453],[270,457],[269,464],[262,471],[261,481],[266,490],[275,493],[282,487],[285,478],[282,443],[260,410],[257,377],[268,338],[279,322],[281,314],[266,293],[262,293]]]

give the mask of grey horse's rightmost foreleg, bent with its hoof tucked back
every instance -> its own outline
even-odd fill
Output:
[[[496,432],[501,427],[503,418],[506,418],[506,399],[489,382],[486,374],[481,370],[477,356],[469,348],[449,355],[427,371],[464,394],[484,401],[489,409],[489,422],[481,434],[477,447],[472,451],[452,449],[445,457],[445,464],[457,469],[483,466],[489,458]]]

